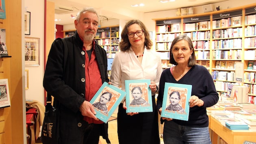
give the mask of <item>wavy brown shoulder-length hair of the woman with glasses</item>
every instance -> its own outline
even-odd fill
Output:
[[[132,24],[138,24],[141,27],[141,29],[143,30],[143,34],[145,35],[144,45],[147,47],[147,49],[151,49],[153,43],[150,40],[150,35],[149,35],[149,32],[148,32],[146,26],[140,20],[133,19],[133,20],[128,21],[126,23],[126,25],[124,26],[124,29],[122,30],[121,42],[119,43],[120,50],[126,51],[126,50],[130,49],[131,44],[129,42],[127,33],[128,33],[128,27]]]

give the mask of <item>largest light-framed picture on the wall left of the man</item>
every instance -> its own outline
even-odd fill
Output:
[[[39,38],[25,37],[25,65],[39,66]]]

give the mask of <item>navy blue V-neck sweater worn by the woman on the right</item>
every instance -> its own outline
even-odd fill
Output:
[[[180,83],[192,85],[191,95],[195,95],[204,101],[204,106],[194,106],[189,109],[189,121],[174,119],[172,121],[190,127],[207,127],[209,119],[206,108],[215,105],[219,100],[219,95],[215,89],[213,78],[204,66],[193,66],[187,74],[176,81],[170,72],[170,68],[165,69],[161,75],[159,83],[159,93],[157,97],[158,110],[163,104],[163,94],[165,83]]]

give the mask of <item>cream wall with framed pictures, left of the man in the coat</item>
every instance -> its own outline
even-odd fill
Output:
[[[44,104],[43,74],[44,74],[44,0],[25,0],[26,11],[30,12],[30,35],[29,38],[40,38],[39,62],[40,66],[25,66],[28,70],[28,89],[26,99],[37,100]]]

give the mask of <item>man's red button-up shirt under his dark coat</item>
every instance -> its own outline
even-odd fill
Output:
[[[85,53],[85,100],[88,102],[90,102],[95,93],[97,93],[102,86],[100,70],[97,60],[95,59],[95,41],[93,41],[92,47],[93,50],[91,52],[90,61],[87,52]],[[83,47],[83,50],[86,51],[85,47]],[[84,116],[83,120],[88,123],[103,123],[102,121],[96,121],[88,116]]]

